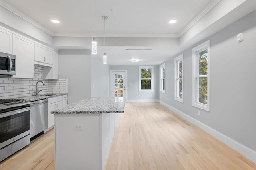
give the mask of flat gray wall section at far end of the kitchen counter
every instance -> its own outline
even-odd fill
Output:
[[[91,96],[90,50],[60,50],[59,78],[68,79],[68,104]]]

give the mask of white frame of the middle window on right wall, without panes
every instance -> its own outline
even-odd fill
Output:
[[[178,75],[180,73],[180,69],[178,66],[179,61],[182,61],[182,78],[180,78]],[[174,58],[174,100],[177,100],[179,102],[183,103],[183,98],[184,98],[184,88],[183,88],[183,54],[179,55],[178,57]],[[177,87],[177,81],[182,80],[182,98],[178,97],[178,87]]]

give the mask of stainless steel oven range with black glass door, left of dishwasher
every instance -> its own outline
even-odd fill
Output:
[[[30,143],[30,102],[0,100],[0,161]]]

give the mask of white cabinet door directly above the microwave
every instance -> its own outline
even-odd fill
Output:
[[[12,54],[12,33],[0,28],[0,51]]]

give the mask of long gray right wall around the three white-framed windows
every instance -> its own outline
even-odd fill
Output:
[[[210,36],[210,112],[191,105],[191,50],[166,61],[166,93],[159,99],[256,150],[256,11]],[[244,41],[236,36],[244,33]],[[184,103],[174,100],[174,58],[183,54]],[[200,110],[200,115],[197,114]]]

